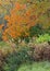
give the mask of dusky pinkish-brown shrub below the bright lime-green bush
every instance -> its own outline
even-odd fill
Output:
[[[33,48],[34,60],[50,60],[50,45],[48,43],[36,44]]]

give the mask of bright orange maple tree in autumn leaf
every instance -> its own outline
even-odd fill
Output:
[[[36,15],[33,14],[32,9],[28,9],[26,4],[16,2],[10,14],[4,16],[8,23],[2,38],[8,40],[9,36],[12,38],[29,36],[28,31],[35,25],[34,17],[36,17]]]

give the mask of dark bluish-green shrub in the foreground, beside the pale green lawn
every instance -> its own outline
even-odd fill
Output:
[[[20,64],[24,62],[32,61],[30,57],[28,56],[29,49],[26,47],[18,48],[16,52],[9,55],[5,59],[4,71],[15,71],[18,69]]]

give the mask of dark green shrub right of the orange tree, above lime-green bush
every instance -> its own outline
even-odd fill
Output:
[[[45,31],[42,28],[42,25],[41,24],[36,24],[35,26],[32,26],[29,28],[29,36],[33,37],[33,36],[38,36],[38,35],[41,35],[43,34]]]

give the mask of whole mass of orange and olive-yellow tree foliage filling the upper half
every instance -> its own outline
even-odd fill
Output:
[[[1,23],[7,21],[2,33],[4,40],[29,36],[29,28],[35,24],[41,24],[43,28],[50,26],[50,2],[47,0],[7,0],[4,4],[1,0],[1,17],[4,17]]]

